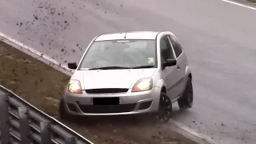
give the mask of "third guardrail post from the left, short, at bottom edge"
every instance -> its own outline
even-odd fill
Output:
[[[40,122],[40,127],[41,127],[41,143],[42,144],[48,144],[52,143],[51,142],[51,137],[50,137],[50,122]]]

